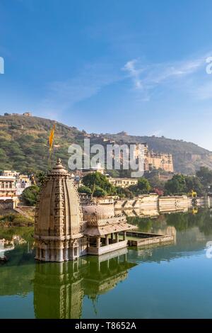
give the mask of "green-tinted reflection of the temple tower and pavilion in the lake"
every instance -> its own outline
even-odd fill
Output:
[[[126,261],[126,249],[78,261],[37,263],[34,307],[37,318],[80,318],[83,296],[95,299],[127,278],[136,266]],[[115,256],[114,256],[115,255]]]

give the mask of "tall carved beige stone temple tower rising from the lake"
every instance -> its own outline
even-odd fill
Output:
[[[86,254],[78,193],[61,160],[42,186],[35,213],[35,259],[67,261]]]

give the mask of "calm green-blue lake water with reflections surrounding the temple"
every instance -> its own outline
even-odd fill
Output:
[[[0,227],[0,239],[20,235],[23,243],[5,253],[0,247],[9,259],[0,265],[0,318],[212,318],[212,211],[129,222],[175,242],[40,263],[33,228]]]

